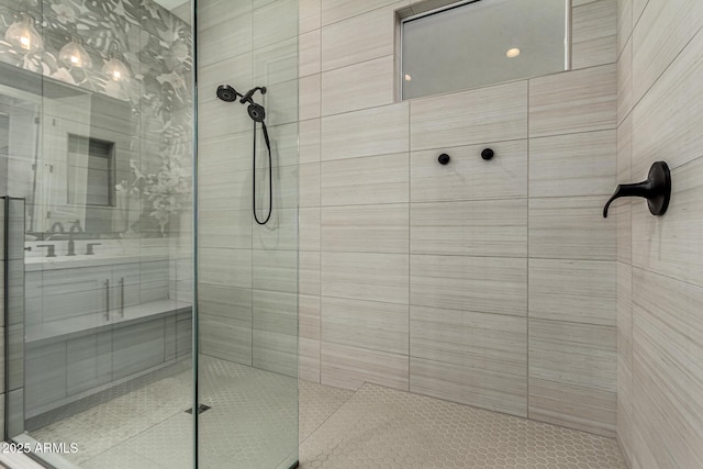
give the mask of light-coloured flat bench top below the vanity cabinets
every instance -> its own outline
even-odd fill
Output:
[[[66,340],[86,334],[94,334],[112,327],[120,327],[127,323],[134,324],[142,321],[154,320],[161,315],[190,313],[191,310],[192,304],[183,301],[152,301],[125,308],[124,317],[122,317],[119,312],[113,311],[110,314],[110,321],[105,321],[104,313],[94,313],[29,325],[26,326],[24,340],[27,345],[44,345],[46,343]]]

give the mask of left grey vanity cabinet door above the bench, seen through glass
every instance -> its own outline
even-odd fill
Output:
[[[42,278],[42,320],[66,320],[86,316],[94,324],[104,322],[109,306],[107,281],[110,267],[45,270]],[[110,293],[110,294],[109,294]]]

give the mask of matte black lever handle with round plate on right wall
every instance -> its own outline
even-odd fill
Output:
[[[656,161],[649,168],[649,176],[646,181],[617,186],[615,193],[603,208],[603,217],[607,217],[609,206],[615,199],[621,197],[644,197],[647,199],[649,212],[652,215],[663,215],[669,208],[669,200],[671,199],[671,172],[669,171],[669,166],[663,161]]]

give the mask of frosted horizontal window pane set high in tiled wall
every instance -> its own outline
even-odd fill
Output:
[[[569,9],[569,0],[479,0],[401,20],[403,99],[567,69]]]

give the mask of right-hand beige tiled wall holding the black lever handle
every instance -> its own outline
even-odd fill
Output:
[[[617,436],[633,468],[703,467],[703,2],[618,1],[618,181],[671,169],[668,212],[617,202]]]

